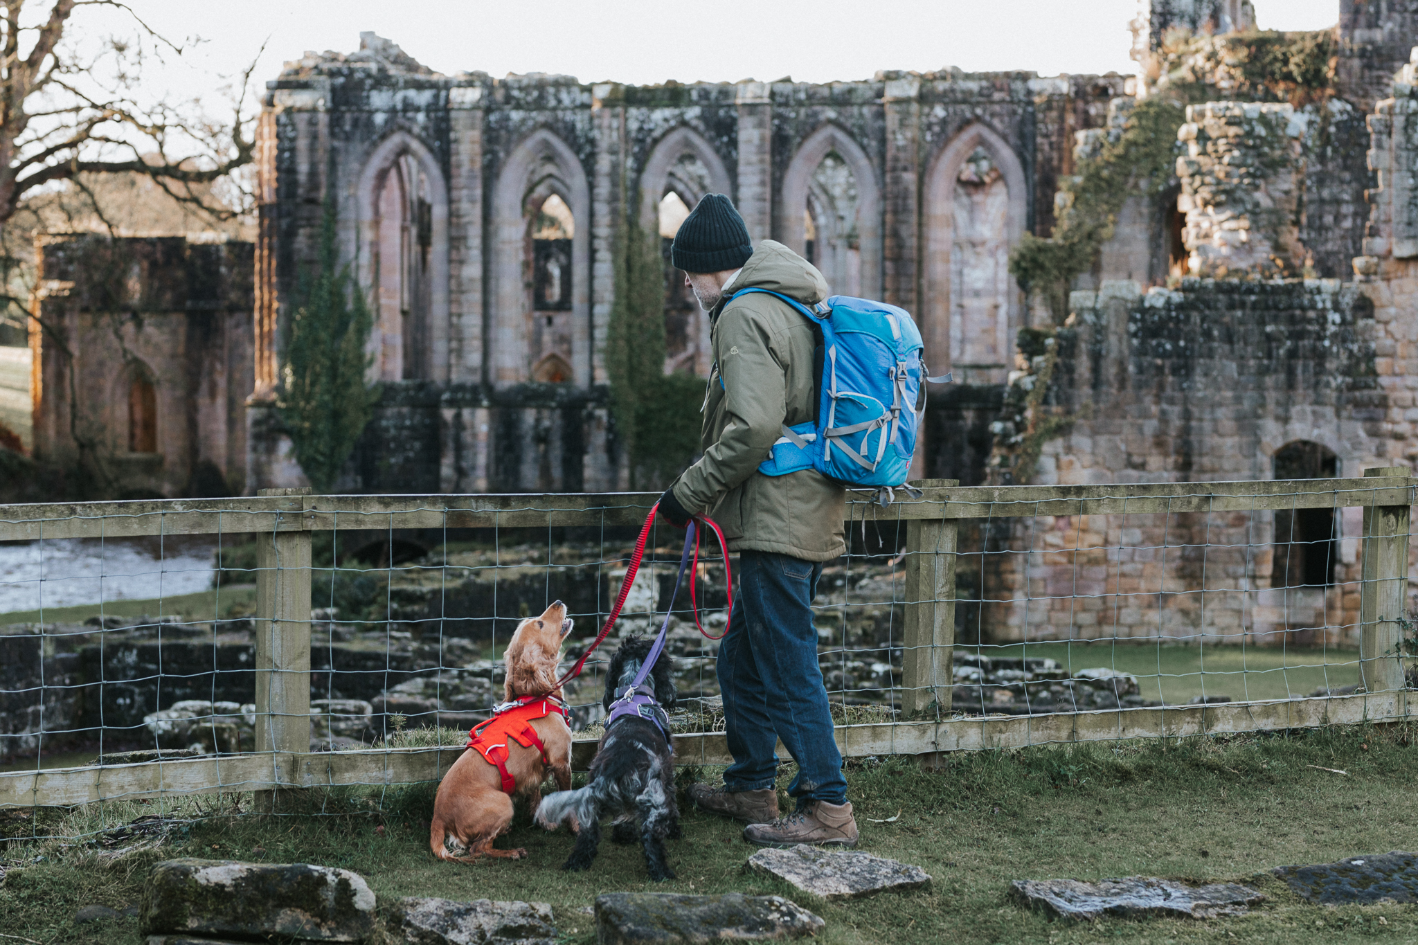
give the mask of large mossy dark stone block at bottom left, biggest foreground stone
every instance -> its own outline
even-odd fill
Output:
[[[374,893],[363,877],[328,866],[167,860],[147,874],[142,929],[359,942],[374,929]]]

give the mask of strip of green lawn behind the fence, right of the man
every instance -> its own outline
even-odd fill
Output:
[[[1027,656],[1058,660],[1076,672],[1093,666],[1132,673],[1143,698],[1185,703],[1194,696],[1229,696],[1236,701],[1309,696],[1324,686],[1337,689],[1358,681],[1358,650],[1296,649],[1279,646],[1218,646],[1183,643],[1011,643],[961,646],[984,656]]]

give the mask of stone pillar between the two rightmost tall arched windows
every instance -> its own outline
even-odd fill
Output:
[[[882,290],[885,300],[919,312],[920,254],[920,79],[888,79],[886,181],[882,201]]]

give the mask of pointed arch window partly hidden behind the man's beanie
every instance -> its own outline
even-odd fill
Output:
[[[679,224],[705,194],[730,194],[729,171],[696,130],[681,126],[659,139],[640,176],[640,221],[647,235],[659,234],[665,271],[665,370],[709,373],[709,319],[685,273],[669,261]]]

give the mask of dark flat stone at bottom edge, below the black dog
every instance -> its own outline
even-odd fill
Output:
[[[781,895],[607,893],[596,897],[597,945],[773,942],[815,935],[825,922]]]

